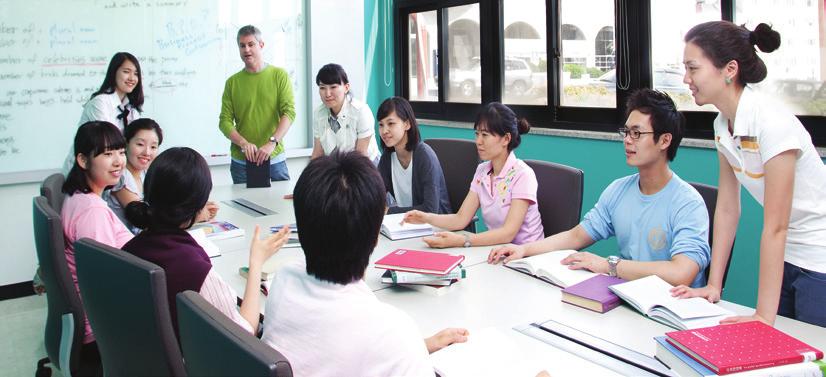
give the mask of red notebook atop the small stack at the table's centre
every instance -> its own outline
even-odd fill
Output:
[[[444,275],[462,263],[464,255],[398,249],[376,261],[377,268]]]

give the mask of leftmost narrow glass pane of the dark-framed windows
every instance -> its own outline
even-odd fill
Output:
[[[439,28],[436,11],[411,13],[408,78],[410,82],[409,98],[411,101],[439,100],[438,38]]]

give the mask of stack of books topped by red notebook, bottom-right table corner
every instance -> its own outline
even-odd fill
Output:
[[[763,322],[673,331],[657,359],[680,376],[823,376],[823,352]]]

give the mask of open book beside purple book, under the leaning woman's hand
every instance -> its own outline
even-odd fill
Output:
[[[672,297],[673,287],[659,276],[650,275],[609,289],[651,319],[680,330],[716,326],[721,319],[734,315],[704,298]]]

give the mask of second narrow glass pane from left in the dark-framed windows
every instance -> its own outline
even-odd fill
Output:
[[[445,8],[447,12],[447,102],[482,102],[479,64],[479,4]]]

